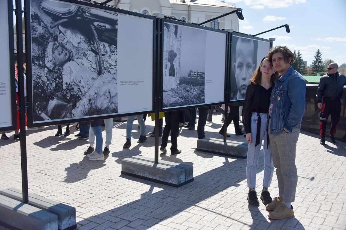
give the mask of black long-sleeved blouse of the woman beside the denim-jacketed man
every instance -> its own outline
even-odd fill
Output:
[[[263,86],[250,83],[246,89],[243,106],[243,124],[246,133],[251,133],[251,113],[268,113],[270,95],[273,87],[265,89]]]

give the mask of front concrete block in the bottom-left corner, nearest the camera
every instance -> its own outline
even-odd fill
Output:
[[[12,229],[57,230],[57,216],[0,195],[0,222]]]

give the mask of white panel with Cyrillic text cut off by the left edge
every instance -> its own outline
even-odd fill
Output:
[[[10,85],[10,57],[9,57],[9,33],[8,33],[8,8],[7,0],[0,1],[0,127],[12,125],[11,121],[11,85]],[[11,50],[12,51],[12,50]],[[14,68],[14,66],[12,66]],[[4,88],[2,88],[4,87]],[[1,91],[6,90],[6,91]]]

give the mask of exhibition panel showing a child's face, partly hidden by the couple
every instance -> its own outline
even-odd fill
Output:
[[[250,78],[266,56],[270,42],[232,36],[230,100],[244,100]]]

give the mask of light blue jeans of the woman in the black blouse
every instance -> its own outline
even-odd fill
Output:
[[[247,164],[246,164],[246,179],[247,179],[247,187],[254,189],[256,188],[256,172],[257,172],[257,164],[258,158],[260,157],[260,150],[263,143],[263,159],[264,159],[264,176],[263,176],[263,187],[270,187],[270,183],[273,179],[274,173],[274,164],[272,152],[269,146],[267,146],[267,125],[269,120],[268,113],[260,113],[261,116],[261,131],[260,131],[260,144],[255,147],[256,143],[256,134],[257,134],[257,113],[253,112],[251,116],[251,138],[252,143],[248,143],[247,150]]]

